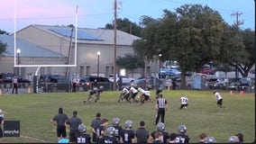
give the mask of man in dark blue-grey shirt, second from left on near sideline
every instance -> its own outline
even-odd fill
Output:
[[[78,134],[78,126],[83,122],[78,118],[78,112],[73,112],[73,117],[69,118],[68,121],[65,122],[65,126],[69,129],[69,142],[77,141],[76,135]]]

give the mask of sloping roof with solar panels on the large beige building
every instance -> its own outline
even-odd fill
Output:
[[[71,36],[71,27],[67,26],[49,26],[49,25],[31,25],[37,27],[43,31],[49,31],[50,33],[57,34],[61,37]],[[87,44],[114,44],[114,30],[108,29],[88,29],[78,28],[78,43]],[[75,39],[75,30],[72,37]],[[116,30],[116,44],[131,46],[133,40],[141,39],[133,34]]]

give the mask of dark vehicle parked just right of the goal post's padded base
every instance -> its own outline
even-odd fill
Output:
[[[39,83],[43,92],[69,92],[71,87],[69,79],[60,75],[41,75]]]

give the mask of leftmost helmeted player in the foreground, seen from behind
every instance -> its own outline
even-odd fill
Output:
[[[90,134],[87,134],[87,127],[83,123],[78,126],[78,133],[76,135],[77,138],[77,143],[86,143],[90,144],[91,143],[91,136]]]

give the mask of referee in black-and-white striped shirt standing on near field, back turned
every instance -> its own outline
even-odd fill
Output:
[[[168,105],[167,105],[166,99],[163,97],[162,94],[160,94],[160,97],[158,98],[156,102],[156,107],[155,107],[158,112],[156,122],[155,122],[156,125],[158,124],[159,120],[164,123],[164,116],[165,116],[165,112],[167,111],[167,106]]]

